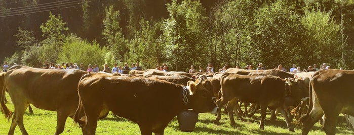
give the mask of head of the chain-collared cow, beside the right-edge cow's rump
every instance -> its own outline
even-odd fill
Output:
[[[291,97],[295,100],[300,100],[309,96],[309,78],[304,79],[285,79],[286,83],[290,86]]]

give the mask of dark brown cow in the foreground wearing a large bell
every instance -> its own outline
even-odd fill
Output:
[[[105,74],[87,74],[78,84],[80,104],[87,119],[74,120],[83,134],[95,134],[102,106],[113,113],[136,122],[141,134],[163,134],[168,123],[182,110],[216,112],[214,101],[202,84],[189,83],[187,87],[161,80],[122,78]]]

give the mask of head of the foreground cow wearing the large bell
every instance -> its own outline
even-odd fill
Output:
[[[216,113],[217,106],[212,99],[211,94],[203,86],[202,81],[195,84],[193,81],[189,81],[189,107],[196,112],[210,112]]]

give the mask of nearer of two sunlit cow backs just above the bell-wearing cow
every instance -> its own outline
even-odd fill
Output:
[[[187,76],[151,76],[148,77],[148,79],[159,79],[159,80],[165,80],[167,82],[171,82],[174,84],[179,84],[186,86],[188,81],[194,81],[192,78],[187,77]]]

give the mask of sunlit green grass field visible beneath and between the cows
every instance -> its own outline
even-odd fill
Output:
[[[7,97],[10,99],[10,97]],[[14,110],[11,101],[7,104],[11,111]],[[168,127],[165,129],[165,134],[300,134],[301,130],[295,129],[295,132],[290,132],[282,116],[278,115],[276,122],[269,121],[269,114],[267,114],[264,130],[260,130],[259,113],[253,118],[246,118],[246,121],[235,120],[237,125],[230,126],[228,116],[222,115],[220,124],[214,124],[215,116],[212,114],[201,113],[199,121],[196,123],[193,132],[182,132],[179,130],[177,118],[174,118]],[[11,122],[5,119],[4,113],[1,113],[0,118],[0,134],[7,134]],[[56,112],[42,110],[33,107],[33,113],[26,110],[24,115],[24,125],[29,134],[54,134],[56,128]],[[21,134],[21,131],[16,127],[15,134]],[[73,123],[71,118],[66,120],[65,129],[62,134],[82,134],[81,128]],[[137,124],[125,119],[114,118],[111,114],[107,118],[99,120],[96,134],[140,134]],[[315,124],[309,134],[325,134],[321,130],[319,123]],[[354,131],[344,126],[341,122],[337,126],[337,134],[354,134]]]

